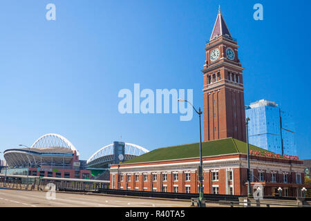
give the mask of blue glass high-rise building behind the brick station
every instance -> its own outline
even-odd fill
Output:
[[[292,115],[282,111],[278,104],[261,99],[245,106],[249,117],[249,144],[281,155],[297,155]]]

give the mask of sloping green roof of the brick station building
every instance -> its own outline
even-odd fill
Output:
[[[259,148],[252,144],[249,144],[250,151],[270,152],[263,148]],[[202,142],[202,156],[208,157],[213,155],[224,155],[232,153],[245,153],[247,152],[247,145],[241,140],[234,138],[225,138],[222,140],[213,140],[208,142]],[[191,157],[200,156],[200,143],[184,144],[178,146],[169,146],[164,148],[157,148],[148,153],[144,153],[138,157],[134,157],[131,160],[122,162],[122,164],[140,163],[140,162],[152,162],[160,160],[177,160]]]

